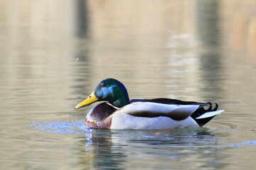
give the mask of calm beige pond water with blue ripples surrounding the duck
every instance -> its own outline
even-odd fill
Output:
[[[254,169],[255,1],[0,1],[0,169]],[[215,101],[204,128],[92,130],[101,79]]]

